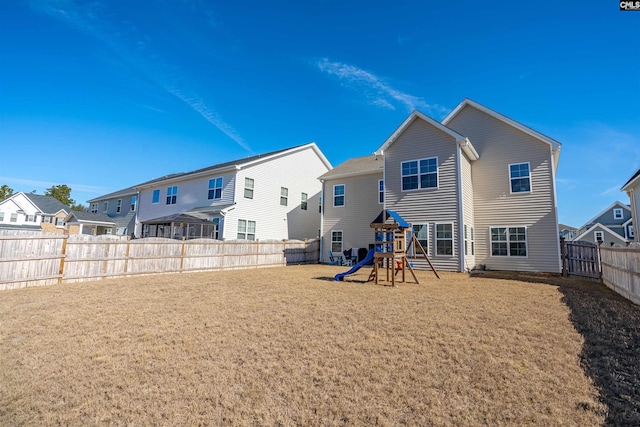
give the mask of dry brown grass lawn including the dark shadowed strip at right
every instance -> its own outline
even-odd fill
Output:
[[[420,285],[392,288],[363,283],[368,269],[327,280],[343,269],[3,291],[0,425],[640,421],[640,310],[601,285],[418,272]],[[616,324],[585,320],[589,304],[635,320],[626,359],[607,347]]]

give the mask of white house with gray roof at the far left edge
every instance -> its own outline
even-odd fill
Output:
[[[51,196],[18,192],[0,202],[0,228],[62,234],[70,211]]]

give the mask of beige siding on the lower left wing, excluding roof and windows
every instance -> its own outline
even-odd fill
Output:
[[[378,203],[378,181],[382,173],[348,178],[329,179],[324,182],[324,215],[322,226],[323,249],[321,259],[326,262],[331,249],[331,232],[342,231],[343,250],[369,248],[374,243],[373,229],[369,226],[383,209]],[[345,185],[345,205],[333,206],[333,186]]]

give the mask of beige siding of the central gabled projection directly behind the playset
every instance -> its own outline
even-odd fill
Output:
[[[429,224],[428,252],[434,266],[453,271],[460,269],[456,152],[453,137],[419,118],[385,152],[386,208],[411,224]],[[402,162],[429,157],[438,158],[438,188],[402,191]],[[453,256],[436,255],[436,223],[453,224]],[[427,266],[418,260],[415,264],[417,268]]]

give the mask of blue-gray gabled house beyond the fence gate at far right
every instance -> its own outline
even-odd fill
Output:
[[[633,240],[631,208],[622,202],[611,206],[587,221],[574,240],[592,243],[629,243]]]

